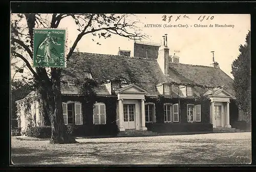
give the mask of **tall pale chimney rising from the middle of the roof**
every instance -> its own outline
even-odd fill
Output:
[[[157,62],[165,75],[169,74],[169,48],[167,46],[167,34],[162,37],[162,45],[158,50]]]

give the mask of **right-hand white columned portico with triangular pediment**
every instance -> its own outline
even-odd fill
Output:
[[[214,128],[231,128],[229,123],[229,103],[230,98],[235,99],[230,93],[221,88],[207,91],[206,95],[210,99],[210,123]]]

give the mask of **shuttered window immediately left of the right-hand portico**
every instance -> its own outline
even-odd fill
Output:
[[[187,104],[187,121],[201,122],[201,104]]]

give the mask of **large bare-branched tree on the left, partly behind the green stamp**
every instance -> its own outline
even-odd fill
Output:
[[[42,103],[47,111],[46,114],[49,115],[51,121],[51,143],[74,143],[75,140],[67,135],[66,126],[63,122],[60,92],[61,69],[34,68],[32,66],[33,29],[58,28],[61,21],[67,17],[72,19],[72,22],[77,27],[76,29],[79,31],[79,34],[67,51],[67,60],[72,57],[72,53],[81,38],[87,34],[92,34],[99,38],[109,38],[112,35],[119,35],[130,39],[144,37],[138,28],[135,27],[136,21],[130,19],[127,14],[11,15],[11,57],[23,60],[26,68],[33,76],[34,83],[36,84],[35,88],[41,95]],[[99,42],[97,44],[100,45]]]

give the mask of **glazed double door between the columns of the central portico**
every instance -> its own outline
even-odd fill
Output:
[[[123,104],[123,126],[125,129],[135,128],[135,104]]]

